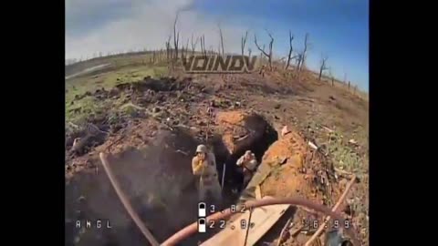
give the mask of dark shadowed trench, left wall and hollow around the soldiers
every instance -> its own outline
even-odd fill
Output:
[[[249,149],[260,163],[266,149],[278,138],[276,130],[263,118],[248,118],[245,128],[253,130],[253,140],[238,145],[231,155],[226,151],[221,136],[214,136],[207,143],[214,147],[219,182],[226,166],[224,200],[216,206],[221,210],[235,204],[244,191],[243,176],[235,165],[236,160]],[[111,158],[110,165],[141,220],[146,222],[158,241],[164,241],[197,220],[198,200],[191,160],[201,142],[184,131],[166,132],[160,136],[153,147],[127,150]],[[238,192],[232,192],[235,188]],[[85,199],[78,201],[81,196]],[[85,220],[98,219],[103,220],[102,224],[110,220],[112,228],[84,230],[75,227],[77,220],[84,223]],[[180,245],[196,245],[215,232],[194,235]],[[66,184],[65,245],[149,245],[123,208],[103,169],[97,175],[81,174]]]

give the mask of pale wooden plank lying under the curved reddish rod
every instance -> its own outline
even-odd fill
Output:
[[[279,204],[253,210],[251,216],[253,226],[249,229],[246,246],[255,245],[255,242],[259,241],[274,226],[289,206],[289,204]],[[223,231],[218,232],[208,241],[204,241],[201,246],[244,245],[246,229],[242,229],[240,223],[241,220],[245,220],[247,223],[248,219],[249,210],[246,210],[245,213],[235,214],[226,222]]]

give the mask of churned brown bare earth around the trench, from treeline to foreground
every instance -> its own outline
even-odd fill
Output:
[[[124,97],[129,110],[90,117],[86,128],[66,133],[66,245],[147,245],[110,186],[99,163],[100,151],[111,153],[111,168],[122,190],[157,240],[164,241],[196,220],[191,159],[197,144],[214,149],[219,173],[226,165],[224,206],[235,202],[238,194],[231,190],[242,182],[235,160],[251,149],[272,167],[261,184],[263,195],[300,196],[332,207],[345,179],[335,175],[332,159],[311,149],[308,141],[325,146],[318,140],[327,135],[322,126],[336,128],[348,139],[359,138],[359,131],[368,126],[368,102],[310,75],[298,82],[281,72],[266,77],[145,77],[82,97]],[[291,132],[281,136],[286,125]],[[74,138],[80,138],[80,149],[72,149]],[[358,141],[355,151],[366,155],[367,139]],[[363,165],[368,169],[367,161]],[[364,179],[350,197],[368,198],[368,176]],[[292,215],[294,221],[308,216],[299,209]],[[77,230],[75,221],[85,219],[108,219],[113,228]],[[364,218],[353,219],[366,245]],[[285,222],[279,221],[279,230]],[[274,228],[262,241],[275,241],[278,234]],[[288,242],[302,245],[306,239],[299,235]],[[193,237],[183,245],[203,240]]]

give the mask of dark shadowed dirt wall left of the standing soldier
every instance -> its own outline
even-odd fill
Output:
[[[183,154],[193,152],[196,145],[197,142],[183,132],[162,131],[154,145],[146,149],[127,149],[110,158],[121,189],[159,241],[196,219],[192,156]],[[85,199],[78,203],[80,197]],[[110,220],[111,231],[117,231],[117,239],[113,238],[115,234],[108,234],[110,232],[90,236],[87,231],[80,234],[80,238],[87,240],[88,245],[106,245],[110,241],[119,245],[147,244],[121,206],[103,169],[99,174],[81,173],[68,180],[66,217],[66,230],[70,230],[67,234],[77,237],[76,220]],[[70,243],[74,240],[66,239]]]

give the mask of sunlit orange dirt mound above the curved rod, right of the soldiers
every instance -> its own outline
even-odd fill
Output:
[[[311,149],[305,138],[292,130],[267,149],[263,163],[271,166],[271,175],[262,185],[264,195],[302,196],[330,204],[333,168],[324,155]],[[280,185],[281,184],[281,185]]]

